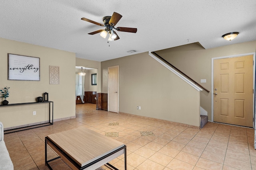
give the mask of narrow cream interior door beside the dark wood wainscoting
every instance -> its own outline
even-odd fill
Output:
[[[108,67],[108,111],[118,113],[119,66]]]

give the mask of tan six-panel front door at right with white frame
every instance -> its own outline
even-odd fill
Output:
[[[214,121],[253,127],[253,56],[214,60]]]

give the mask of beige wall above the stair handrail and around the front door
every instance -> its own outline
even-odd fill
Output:
[[[255,49],[256,41],[212,49],[204,49],[200,45],[192,43],[156,51],[156,53],[210,91],[209,93],[206,91],[201,92],[200,105],[208,112],[208,119],[211,120],[212,58],[255,53]],[[200,83],[200,79],[206,79],[206,83]]]

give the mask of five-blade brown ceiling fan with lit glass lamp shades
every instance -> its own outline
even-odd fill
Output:
[[[129,28],[129,27],[117,27],[115,28],[114,26],[116,25],[116,23],[118,23],[118,21],[122,18],[122,15],[114,12],[112,16],[105,16],[103,17],[103,24],[98,23],[96,21],[92,21],[89,20],[87,18],[81,18],[81,20],[90,22],[90,23],[94,23],[96,25],[100,25],[102,27],[106,27],[105,29],[100,29],[91,33],[88,33],[90,35],[94,35],[96,33],[100,33],[100,36],[102,36],[103,38],[106,38],[106,36],[109,34],[109,39],[108,41],[112,41],[112,40],[118,40],[120,39],[116,33],[116,31],[114,31],[113,29],[117,30],[117,31],[123,31],[123,32],[129,32],[129,33],[136,33],[137,32],[137,28]]]

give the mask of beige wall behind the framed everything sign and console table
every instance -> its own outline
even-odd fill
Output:
[[[40,81],[7,80],[8,53],[39,57]],[[54,102],[54,119],[74,117],[75,57],[75,53],[0,38],[0,88],[10,87],[9,104],[36,102],[38,96],[48,92],[49,100]],[[60,84],[49,84],[50,65],[60,66]],[[6,128],[45,121],[47,108],[48,104],[0,107],[0,121]]]

